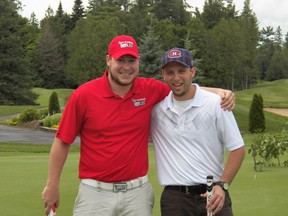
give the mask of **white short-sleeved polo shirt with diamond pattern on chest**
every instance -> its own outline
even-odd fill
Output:
[[[221,98],[198,85],[186,110],[173,109],[173,93],[156,104],[151,115],[151,136],[161,185],[206,184],[219,181],[225,149],[244,145],[232,112],[220,107]]]

